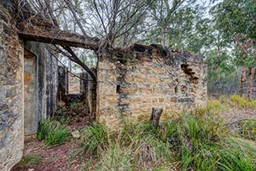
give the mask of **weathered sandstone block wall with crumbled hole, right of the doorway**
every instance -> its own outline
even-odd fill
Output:
[[[206,105],[206,65],[189,52],[134,45],[126,53],[102,54],[97,76],[97,119],[110,127],[149,120],[153,107],[162,108],[166,120]]]

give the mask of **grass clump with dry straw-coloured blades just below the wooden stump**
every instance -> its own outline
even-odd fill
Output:
[[[161,129],[155,129],[150,123],[128,124],[124,126],[118,141],[126,138],[129,144],[123,145],[124,150],[130,151],[130,162],[132,168],[156,169],[161,166],[170,168],[172,155],[169,144],[162,138]],[[119,144],[121,144],[119,142]]]

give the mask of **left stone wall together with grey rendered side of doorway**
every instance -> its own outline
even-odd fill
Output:
[[[36,133],[38,119],[50,116],[58,102],[57,61],[44,44],[24,43],[18,38],[14,15],[10,0],[0,3],[0,170],[10,170],[20,161],[24,134]],[[28,58],[35,58],[34,62],[25,63],[25,51],[30,54]],[[25,82],[31,85],[29,93],[33,93],[28,99],[24,96],[24,91],[28,93]],[[25,99],[34,106],[26,105]],[[28,108],[31,116],[24,113]],[[26,120],[30,117],[34,118]]]

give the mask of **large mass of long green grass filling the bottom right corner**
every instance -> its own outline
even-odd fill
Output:
[[[180,169],[254,170],[256,145],[232,137],[209,114],[182,113],[166,125],[166,137],[176,151]]]

